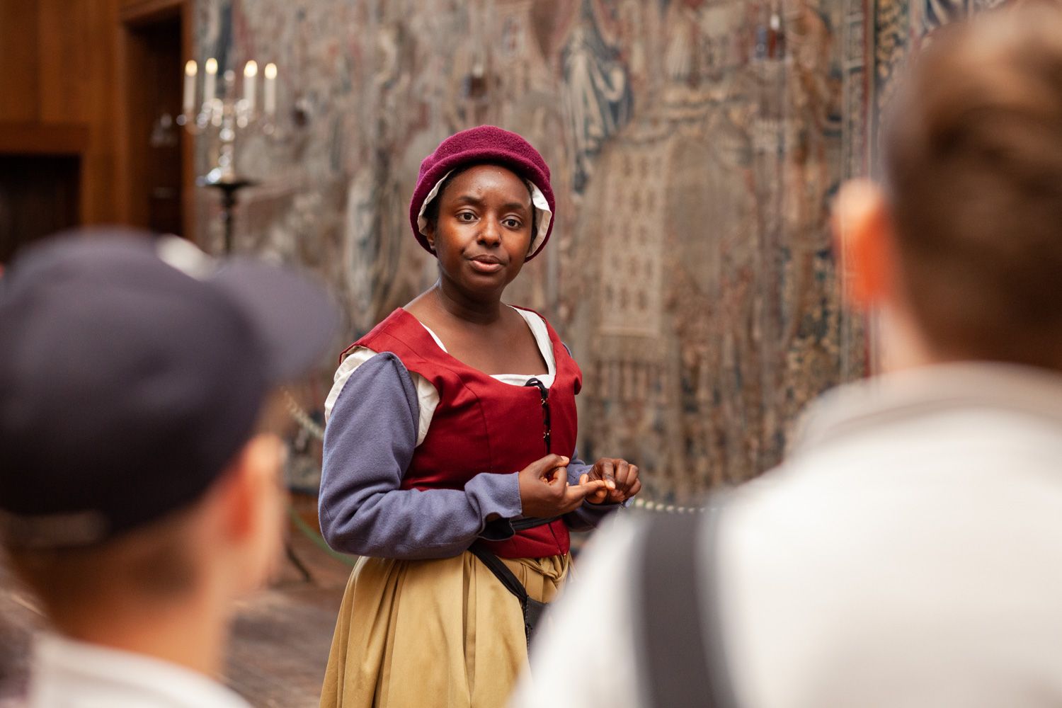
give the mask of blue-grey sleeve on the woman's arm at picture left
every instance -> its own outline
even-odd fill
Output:
[[[480,473],[464,489],[401,489],[419,420],[416,386],[401,361],[376,355],[343,386],[325,428],[319,511],[337,551],[383,558],[445,558],[477,537],[512,536],[517,472]],[[497,521],[486,517],[497,514]]]

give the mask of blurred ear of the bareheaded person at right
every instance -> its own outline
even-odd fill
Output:
[[[866,179],[846,183],[834,203],[832,225],[845,295],[863,310],[891,299],[896,251],[881,189]]]

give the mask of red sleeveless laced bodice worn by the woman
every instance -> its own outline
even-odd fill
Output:
[[[582,386],[582,372],[549,323],[546,329],[556,361],[547,398],[550,451],[570,455],[576,448],[576,394]],[[402,477],[404,489],[463,489],[477,474],[517,472],[547,454],[539,390],[502,383],[461,363],[401,308],[354,346],[394,353],[408,370],[423,376],[439,392],[428,434]],[[556,520],[486,545],[503,558],[564,554],[568,529]]]

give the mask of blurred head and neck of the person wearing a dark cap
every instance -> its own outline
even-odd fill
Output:
[[[210,673],[280,543],[270,392],[328,343],[297,274],[105,230],[0,281],[0,540],[61,633]]]

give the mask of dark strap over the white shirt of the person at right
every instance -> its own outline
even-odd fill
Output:
[[[719,512],[713,505],[705,514],[649,519],[637,573],[641,680],[650,708],[736,706],[714,585]],[[712,572],[710,587],[704,569]]]

